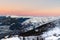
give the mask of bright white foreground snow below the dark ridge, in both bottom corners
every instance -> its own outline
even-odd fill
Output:
[[[60,27],[58,26],[47,32],[44,32],[42,37],[44,38],[44,40],[60,40]],[[32,39],[33,37],[30,37],[30,40]],[[23,38],[20,39],[19,37],[11,37],[11,38],[1,39],[1,40],[23,40]],[[25,40],[28,40],[27,37],[25,37]]]

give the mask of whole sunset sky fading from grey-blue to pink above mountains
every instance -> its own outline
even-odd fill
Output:
[[[60,0],[0,0],[0,15],[60,16]]]

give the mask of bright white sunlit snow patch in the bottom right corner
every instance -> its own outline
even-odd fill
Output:
[[[54,34],[56,35],[54,36]],[[43,33],[42,37],[45,38],[45,40],[60,40],[60,27],[55,27]]]

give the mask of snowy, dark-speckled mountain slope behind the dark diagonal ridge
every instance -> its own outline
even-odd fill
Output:
[[[27,32],[29,30],[32,30],[41,25],[44,25],[46,23],[49,23],[58,19],[60,19],[60,17],[33,17],[22,23],[22,25],[24,25],[22,30],[24,30],[24,32]]]

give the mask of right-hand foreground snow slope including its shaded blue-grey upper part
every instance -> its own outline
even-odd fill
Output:
[[[44,32],[41,36],[44,40],[60,40],[60,19],[54,22],[55,27]]]

